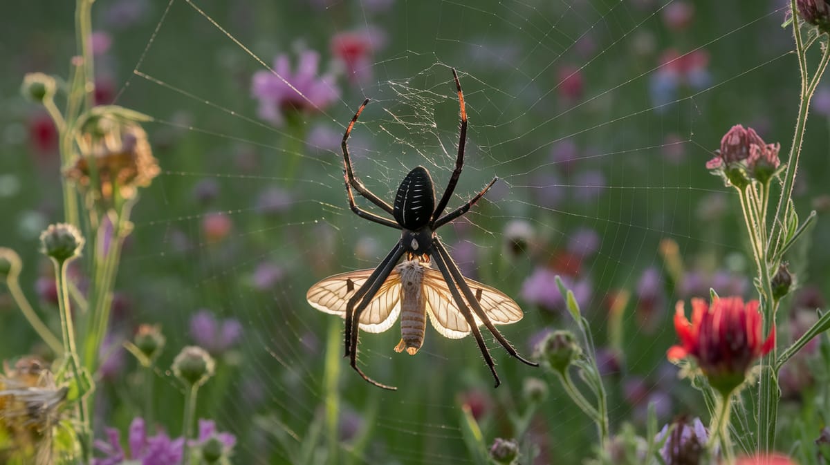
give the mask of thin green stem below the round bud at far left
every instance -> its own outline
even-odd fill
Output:
[[[66,361],[68,361],[72,371],[72,377],[78,390],[78,439],[81,443],[81,454],[83,463],[90,462],[92,453],[92,437],[90,434],[90,423],[88,419],[88,409],[86,404],[85,380],[81,378],[81,364],[78,360],[78,351],[75,345],[75,327],[72,323],[72,312],[69,303],[69,290],[66,288],[66,267],[68,261],[58,262],[52,260],[55,264],[55,275],[57,284],[57,303],[61,312],[61,330],[63,332],[63,351]]]

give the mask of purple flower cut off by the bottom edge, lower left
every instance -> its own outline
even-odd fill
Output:
[[[121,448],[119,431],[114,428],[105,431],[109,442],[100,439],[95,441],[95,448],[104,453],[105,457],[93,458],[92,465],[118,465],[127,459],[141,465],[178,465],[182,461],[184,439],[171,439],[164,432],[148,437],[144,419],[135,418],[129,425],[129,455]]]

